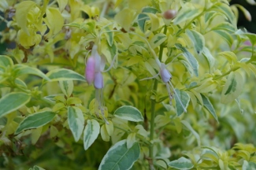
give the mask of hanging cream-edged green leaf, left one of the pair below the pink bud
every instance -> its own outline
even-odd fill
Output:
[[[81,109],[75,106],[69,106],[68,108],[68,122],[69,128],[72,131],[75,141],[80,139],[83,133],[84,118]]]

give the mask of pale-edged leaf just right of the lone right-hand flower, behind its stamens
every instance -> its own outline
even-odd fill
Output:
[[[175,89],[175,93],[179,96],[180,101],[184,105],[185,109],[187,109],[187,105],[189,103],[190,97],[185,91],[180,91],[179,89]],[[180,104],[179,99],[174,95],[175,99],[175,105],[176,105],[176,115],[180,116],[182,113],[184,113],[184,108]]]

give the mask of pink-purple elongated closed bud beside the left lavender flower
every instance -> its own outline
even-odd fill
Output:
[[[95,80],[95,57],[89,57],[87,60],[85,78],[89,85],[91,85]]]

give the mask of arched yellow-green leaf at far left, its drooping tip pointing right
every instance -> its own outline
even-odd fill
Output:
[[[27,65],[14,65],[14,70],[16,72],[16,76],[32,74],[35,76],[40,76],[43,79],[50,80],[43,72],[41,72],[38,68],[32,68]]]

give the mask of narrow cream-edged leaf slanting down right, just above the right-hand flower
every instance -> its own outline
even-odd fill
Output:
[[[179,50],[182,50],[184,53],[184,57],[186,57],[188,63],[190,64],[191,68],[193,69],[193,72],[195,76],[198,76],[198,61],[195,59],[195,57],[181,44],[176,43],[175,44],[176,48]]]

